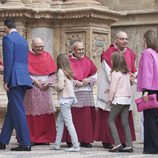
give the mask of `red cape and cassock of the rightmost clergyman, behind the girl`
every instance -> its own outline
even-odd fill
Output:
[[[112,66],[111,55],[116,51],[118,51],[117,48],[112,44],[106,51],[104,51],[102,53],[101,61],[105,60],[106,63],[109,65],[109,67],[111,67]],[[124,52],[124,57],[125,57],[129,71],[131,73],[135,73],[136,72],[135,53],[131,49],[126,48],[126,50]],[[109,117],[109,111],[105,111],[101,108],[98,108],[98,111],[96,114],[94,139],[96,141],[102,141],[103,143],[114,144],[114,141],[113,141],[113,138],[111,136],[110,129],[109,129],[108,117]],[[135,136],[132,111],[129,112],[129,125],[130,125],[132,140],[135,141],[136,136]],[[125,143],[125,135],[124,135],[123,126],[121,124],[120,115],[116,118],[116,126],[118,129],[118,134],[119,134],[121,143],[124,144]]]

